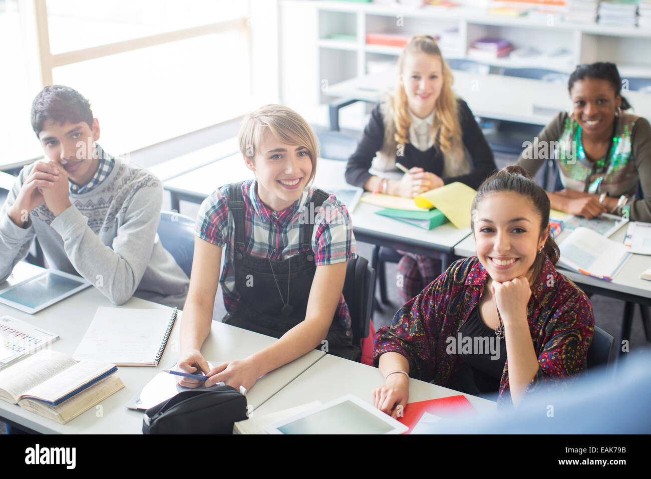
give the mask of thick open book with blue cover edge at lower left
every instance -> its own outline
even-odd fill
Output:
[[[0,399],[66,424],[124,387],[115,364],[44,350],[0,371]]]

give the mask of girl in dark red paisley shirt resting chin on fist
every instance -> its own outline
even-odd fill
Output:
[[[471,225],[477,256],[453,263],[376,335],[385,385],[373,398],[387,414],[408,402],[409,377],[518,405],[586,366],[592,305],[554,267],[546,192],[506,167],[479,187]]]

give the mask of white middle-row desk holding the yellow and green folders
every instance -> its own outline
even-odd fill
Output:
[[[314,184],[326,190],[348,186],[344,180],[345,169],[346,162],[319,158]],[[181,200],[201,203],[218,186],[245,179],[253,179],[253,172],[238,153],[171,179],[164,187],[173,197],[172,208],[178,210]],[[350,211],[357,240],[417,254],[437,252],[447,257],[444,267],[449,264],[452,248],[471,233],[470,228],[457,229],[449,223],[426,230],[374,214],[378,210],[380,207],[359,203]]]

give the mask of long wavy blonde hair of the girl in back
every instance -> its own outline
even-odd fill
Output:
[[[450,67],[445,63],[441,50],[432,36],[412,36],[409,43],[400,53],[398,58],[398,72],[402,73],[404,61],[407,55],[413,53],[426,53],[434,55],[441,59],[443,69],[443,87],[441,94],[434,104],[434,124],[432,125],[432,139],[436,145],[445,154],[456,148],[462,147],[461,124],[459,123],[458,105],[456,97],[452,93],[452,72]],[[409,126],[411,126],[411,116],[409,116],[409,105],[405,89],[398,81],[395,92],[391,97],[393,106],[394,124],[396,127],[395,141],[398,145],[406,145],[409,142]]]

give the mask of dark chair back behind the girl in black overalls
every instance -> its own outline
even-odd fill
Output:
[[[350,310],[353,342],[361,345],[368,337],[375,297],[375,270],[368,266],[367,259],[357,256],[348,261],[343,293]]]

